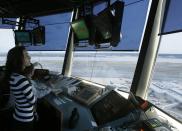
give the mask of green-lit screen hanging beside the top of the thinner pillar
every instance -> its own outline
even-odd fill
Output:
[[[76,34],[78,40],[88,40],[89,30],[84,19],[75,20],[71,23],[71,27]]]

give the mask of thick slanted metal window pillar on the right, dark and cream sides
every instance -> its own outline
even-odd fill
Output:
[[[160,44],[160,33],[166,0],[152,0],[148,14],[142,47],[137,62],[131,92],[146,99],[151,75],[156,62]]]

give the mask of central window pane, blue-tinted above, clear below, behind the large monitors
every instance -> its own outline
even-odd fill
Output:
[[[111,2],[113,3],[114,0]],[[149,1],[124,0],[124,2],[122,39],[119,45],[112,49],[103,48],[97,49],[97,51],[92,46],[92,52],[78,52],[79,49],[89,50],[91,46],[76,48],[72,67],[73,76],[118,87],[124,91],[130,90]],[[97,7],[103,8],[103,5]],[[95,7],[94,13],[100,11],[97,7]]]

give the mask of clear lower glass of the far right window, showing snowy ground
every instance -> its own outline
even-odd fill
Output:
[[[182,121],[182,33],[162,36],[148,100]]]

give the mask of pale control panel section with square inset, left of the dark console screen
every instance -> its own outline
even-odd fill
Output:
[[[97,84],[63,76],[52,80],[50,85],[55,94],[63,92],[86,106],[89,106],[103,90]]]

